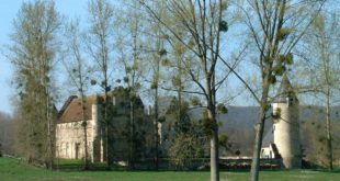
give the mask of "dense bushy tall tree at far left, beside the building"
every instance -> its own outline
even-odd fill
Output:
[[[53,1],[24,2],[13,21],[9,59],[19,90],[22,154],[34,163],[53,168],[55,106],[54,77],[60,15]]]

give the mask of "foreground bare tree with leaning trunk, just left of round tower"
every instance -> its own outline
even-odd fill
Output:
[[[250,180],[259,180],[260,150],[264,122],[271,106],[271,90],[277,78],[293,63],[293,48],[310,25],[325,1],[249,0],[237,4],[242,11],[256,47],[256,66],[259,68],[260,93],[254,99],[260,105],[260,117],[256,126],[256,142]]]

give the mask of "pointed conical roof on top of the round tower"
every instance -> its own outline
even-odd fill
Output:
[[[287,99],[293,98],[297,100],[297,97],[294,92],[294,89],[288,80],[288,77],[286,73],[283,75],[281,86],[279,88],[276,98],[274,102],[281,102],[281,103],[286,103]]]

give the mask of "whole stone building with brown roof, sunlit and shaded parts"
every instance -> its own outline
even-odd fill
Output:
[[[134,138],[131,129],[132,102],[129,91],[116,88],[109,94],[109,158],[114,161],[127,161],[132,155],[131,140],[136,140],[134,155],[143,157],[147,150],[147,129],[151,122],[146,118],[146,112],[139,97],[133,101],[134,105]],[[106,123],[103,121],[103,95],[86,97],[84,114],[87,117],[88,152],[91,161],[106,161],[106,144],[104,138]],[[150,123],[149,123],[150,122]],[[137,152],[139,151],[139,152]],[[136,154],[137,152],[137,154]],[[56,126],[56,157],[81,159],[84,157],[84,133],[82,127],[82,112],[80,99],[70,97],[59,112]]]

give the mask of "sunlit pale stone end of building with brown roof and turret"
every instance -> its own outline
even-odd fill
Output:
[[[102,140],[98,140],[99,115],[97,97],[88,97],[84,99],[84,102],[87,108],[88,154],[92,161],[102,161]],[[70,97],[60,112],[56,126],[56,157],[70,159],[84,157],[82,112],[80,99],[77,97]]]

